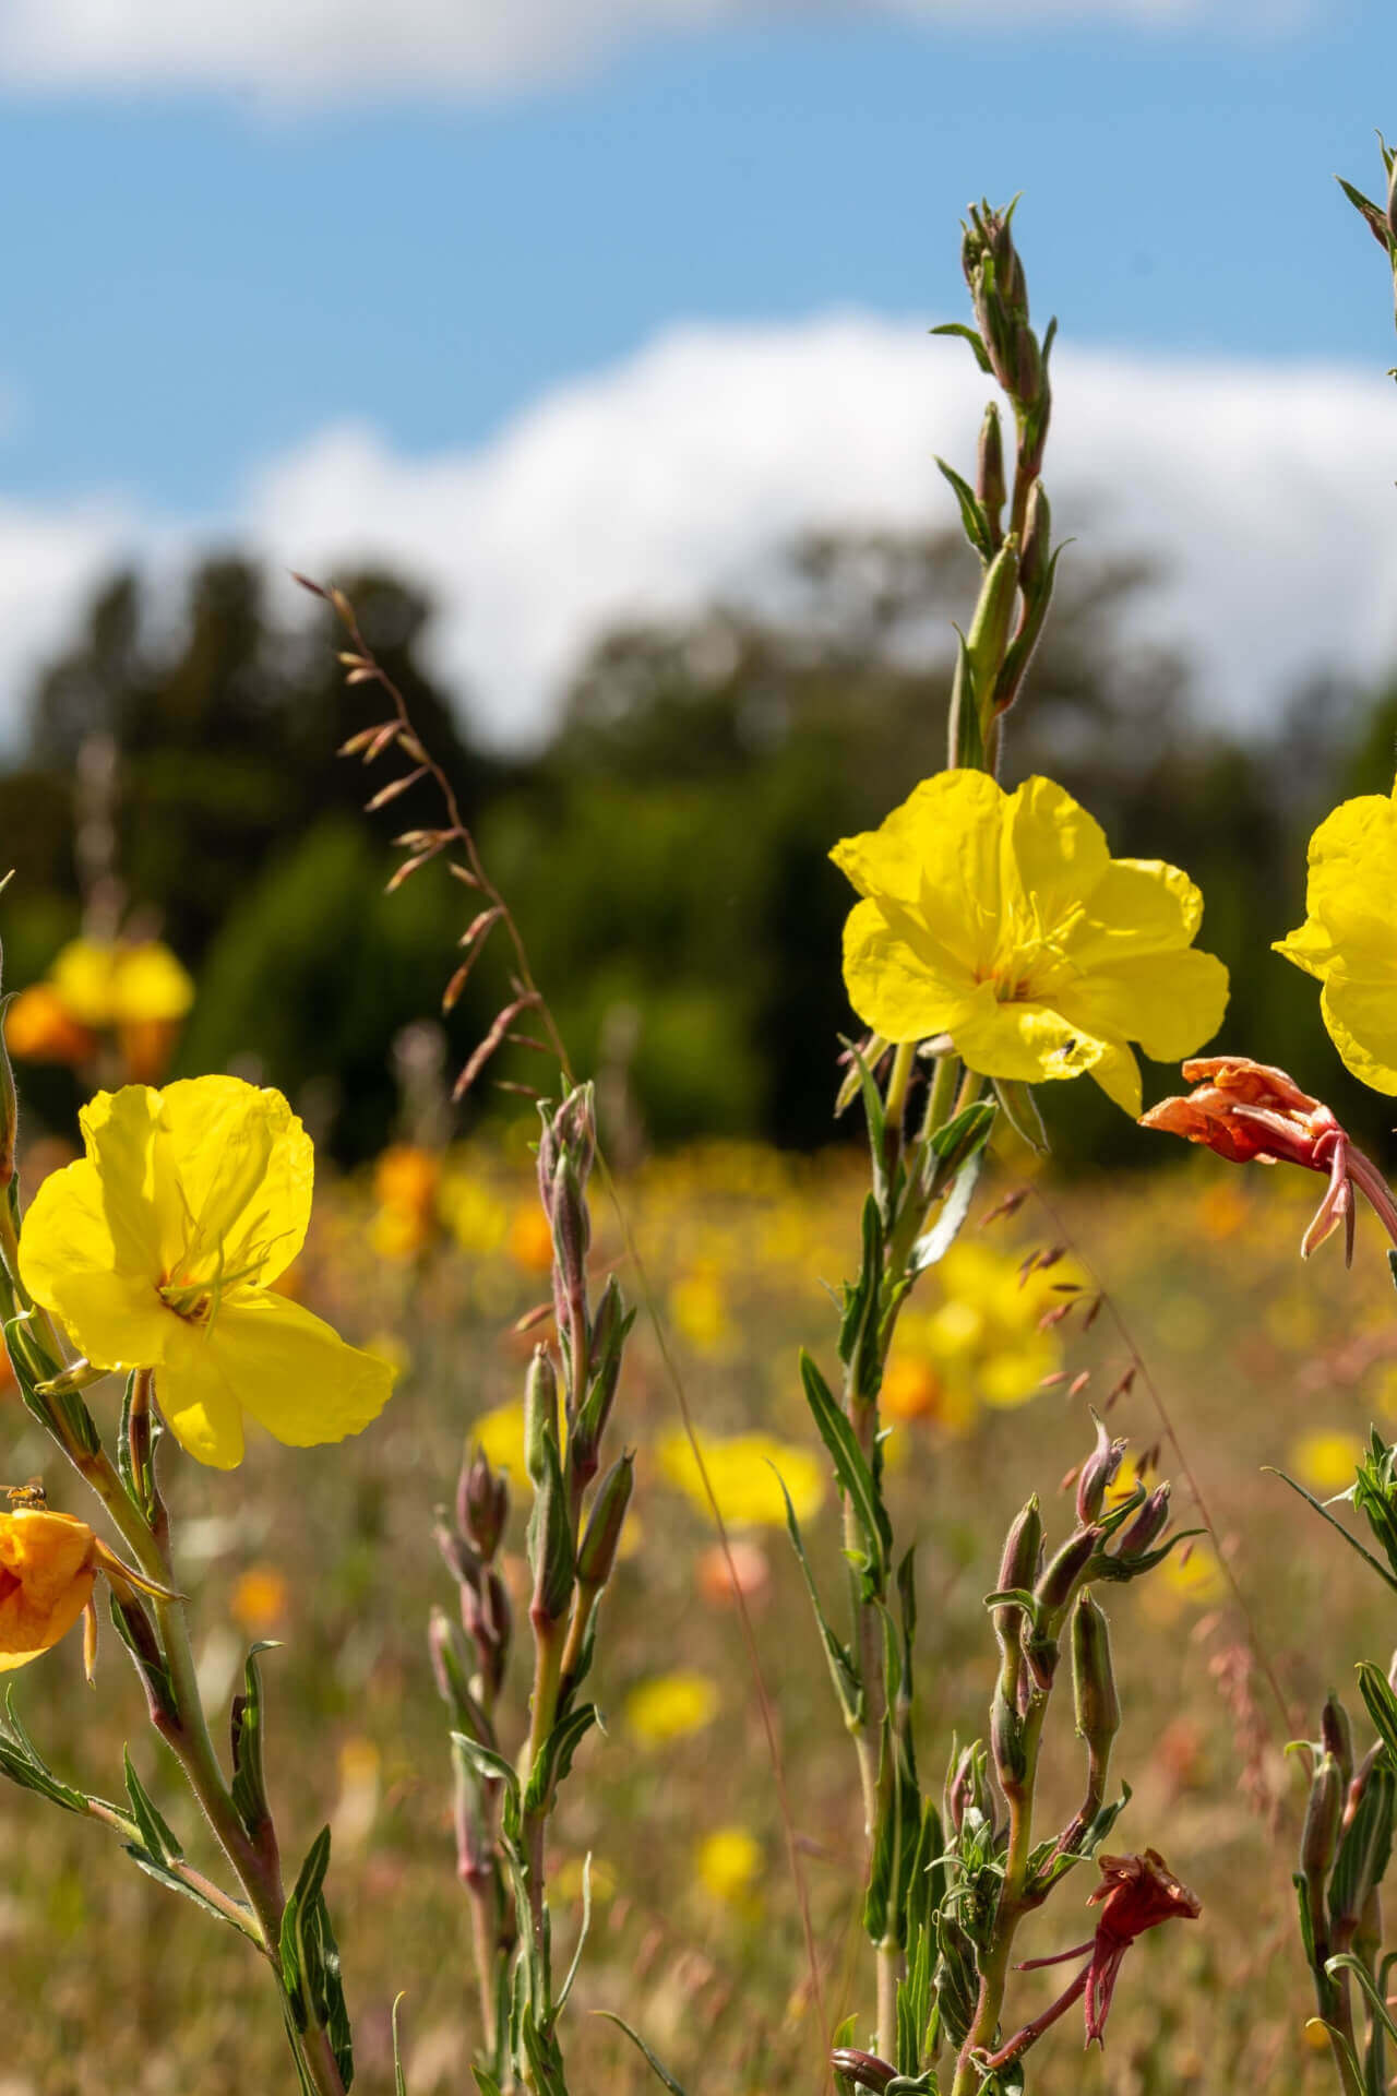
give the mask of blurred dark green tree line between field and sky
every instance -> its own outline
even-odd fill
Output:
[[[949,620],[974,593],[961,541],[811,537],[764,614],[716,604],[612,633],[528,759],[482,750],[469,698],[423,669],[423,597],[383,574],[343,581],[459,786],[578,1065],[607,1065],[658,1142],[829,1140],[836,1035],[852,1019],[838,970],[850,895],[827,849],[945,761]],[[1391,788],[1397,683],[1366,698],[1317,683],[1240,740],[1200,719],[1181,658],[1125,639],[1148,585],[1144,564],[1064,564],[1010,715],[1005,782],[1051,771],[1114,851],[1188,868],[1202,943],[1232,968],[1219,1044],[1288,1067],[1374,1134],[1382,1102],[1347,1079],[1315,985],[1269,941],[1303,914],[1315,820]],[[77,757],[111,736],[132,912],[199,981],[178,1067],[262,1073],[314,1107],[346,1161],[364,1157],[400,1113],[392,1044],[436,1012],[471,910],[442,868],[383,895],[387,838],[438,817],[431,788],[362,813],[377,776],[333,752],[381,700],[346,687],[329,618],[295,633],[268,620],[256,566],[199,568],[176,627],[151,612],[136,576],[115,578],[27,698],[0,778],[17,868],[6,987],[42,975],[82,920]],[[503,987],[503,956],[486,956],[448,1023],[452,1056]],[[496,1075],[534,1075],[524,1065],[513,1052]],[[1146,1065],[1146,1098],[1169,1082]],[[25,1092],[52,1123],[73,1111],[61,1071],[27,1073]],[[1068,1157],[1156,1155],[1093,1086],[1045,1092]]]

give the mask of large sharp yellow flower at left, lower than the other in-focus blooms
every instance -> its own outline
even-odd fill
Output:
[[[314,1153],[281,1092],[195,1077],[98,1092],[86,1157],[40,1186],[19,1270],[98,1369],[155,1369],[201,1463],[243,1459],[243,1413],[304,1448],[379,1415],[392,1369],[270,1283],[310,1222]]]

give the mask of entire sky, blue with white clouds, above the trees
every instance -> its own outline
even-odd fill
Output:
[[[4,0],[0,103],[0,736],[126,558],[387,560],[524,736],[614,618],[949,522],[984,388],[926,329],[1014,189],[1070,528],[1160,555],[1234,711],[1397,654],[1332,182],[1397,132],[1391,0]]]

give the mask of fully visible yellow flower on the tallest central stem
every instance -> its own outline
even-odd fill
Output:
[[[884,1040],[949,1033],[982,1077],[1091,1071],[1137,1115],[1127,1044],[1175,1063],[1221,1025],[1227,970],[1192,947],[1194,882],[1112,859],[1051,780],[1007,794],[984,771],[940,771],[831,857],[863,895],[844,926],[848,998]]]

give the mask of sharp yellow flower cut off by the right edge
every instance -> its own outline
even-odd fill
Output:
[[[1309,840],[1305,922],[1273,941],[1320,979],[1320,1017],[1374,1092],[1397,1092],[1395,885],[1397,801],[1376,792],[1345,801]]]

